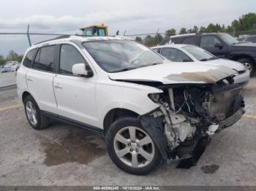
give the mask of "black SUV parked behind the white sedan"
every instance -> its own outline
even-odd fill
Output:
[[[196,45],[219,58],[228,58],[244,63],[251,75],[255,73],[256,44],[238,42],[230,34],[212,33],[170,36],[164,39],[161,45],[169,43]]]

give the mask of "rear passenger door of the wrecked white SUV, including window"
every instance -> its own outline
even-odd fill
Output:
[[[41,110],[56,112],[56,99],[53,93],[53,68],[56,65],[56,45],[40,47],[33,66],[26,73],[29,92]]]

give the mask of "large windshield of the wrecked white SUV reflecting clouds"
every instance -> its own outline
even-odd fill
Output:
[[[162,63],[164,58],[154,50],[134,41],[105,40],[83,42],[99,66],[108,72],[126,71]]]

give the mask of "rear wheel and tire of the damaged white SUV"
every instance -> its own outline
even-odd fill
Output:
[[[37,102],[31,95],[26,96],[24,99],[24,109],[26,118],[29,121],[29,125],[36,130],[47,128],[50,124],[48,117],[42,115]]]

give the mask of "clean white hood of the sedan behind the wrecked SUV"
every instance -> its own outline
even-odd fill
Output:
[[[210,63],[217,66],[227,66],[228,68],[235,69],[236,71],[245,71],[244,64],[238,63],[236,61],[230,61],[227,59],[219,58],[213,61],[206,61],[205,63]]]

